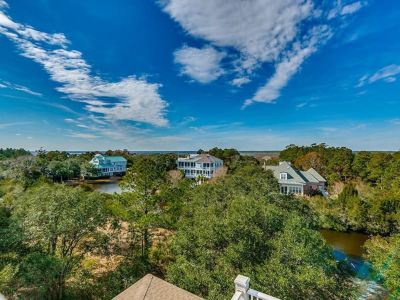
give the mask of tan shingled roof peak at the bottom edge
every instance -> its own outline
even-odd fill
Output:
[[[147,274],[113,300],[203,300],[188,291]]]

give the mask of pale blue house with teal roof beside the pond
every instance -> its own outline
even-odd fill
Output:
[[[96,167],[98,176],[115,176],[126,172],[127,161],[122,156],[96,154],[90,163]]]

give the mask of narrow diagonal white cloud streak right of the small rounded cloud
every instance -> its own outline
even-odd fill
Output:
[[[315,27],[303,43],[296,43],[281,62],[276,65],[274,75],[261,86],[251,99],[245,101],[243,107],[254,102],[273,103],[291,77],[299,70],[304,60],[317,51],[320,43],[329,39],[331,32],[327,26]]]

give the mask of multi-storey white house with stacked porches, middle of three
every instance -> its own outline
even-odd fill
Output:
[[[191,154],[188,157],[179,157],[178,170],[182,170],[187,178],[212,178],[215,172],[224,165],[224,162],[209,154]]]

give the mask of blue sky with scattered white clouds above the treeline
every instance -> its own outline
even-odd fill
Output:
[[[0,147],[400,149],[400,3],[0,0]]]

